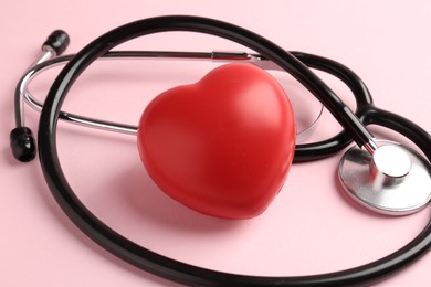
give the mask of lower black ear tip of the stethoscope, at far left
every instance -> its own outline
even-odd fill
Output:
[[[10,148],[13,157],[22,162],[31,161],[36,156],[33,132],[28,127],[19,127],[10,132]]]

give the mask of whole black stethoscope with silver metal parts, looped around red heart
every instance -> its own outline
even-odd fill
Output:
[[[246,53],[176,53],[176,52],[109,52],[128,40],[159,32],[189,31],[212,34],[238,42],[259,54]],[[98,57],[169,56],[225,57],[263,63],[283,70],[309,89],[344,127],[337,136],[314,144],[296,145],[294,161],[312,161],[350,148],[341,159],[339,178],[343,188],[358,203],[383,214],[409,214],[423,209],[431,199],[431,136],[401,116],[372,105],[369,91],[361,79],[346,66],[316,55],[286,52],[264,38],[242,28],[217,20],[197,17],[159,17],[119,26],[99,36],[73,56],[57,56],[69,44],[69,36],[55,31],[43,44],[44,54],[21,78],[15,92],[17,128],[11,131],[11,148],[20,161],[35,157],[32,132],[24,126],[23,102],[41,108],[38,146],[39,158],[46,183],[67,216],[97,244],[124,261],[158,276],[190,286],[267,286],[267,285],[335,285],[346,286],[372,283],[406,267],[424,255],[431,246],[431,223],[409,244],[376,262],[351,269],[298,277],[262,277],[222,273],[181,263],[162,256],[116,233],[77,199],[65,179],[56,149],[57,120],[94,126],[125,134],[135,134],[136,127],[96,120],[61,111],[72,84]],[[34,100],[28,83],[50,65],[69,61],[56,77],[43,104]],[[260,64],[257,64],[260,65]],[[311,70],[320,70],[341,79],[354,93],[357,108],[351,111],[338,96]],[[376,140],[366,128],[378,125],[410,139],[425,156],[400,144]]]

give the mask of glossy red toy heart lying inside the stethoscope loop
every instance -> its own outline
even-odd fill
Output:
[[[236,63],[157,96],[140,118],[138,148],[148,174],[175,200],[204,214],[249,219],[282,188],[295,136],[280,84]]]

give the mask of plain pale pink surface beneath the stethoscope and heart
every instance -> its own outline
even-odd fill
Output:
[[[193,14],[255,31],[287,50],[333,57],[358,73],[379,107],[430,126],[431,3],[416,1],[8,1],[0,10],[1,286],[175,286],[107,254],[83,235],[54,202],[39,162],[18,163],[9,151],[13,91],[54,29],[72,39],[69,52],[119,24]],[[209,36],[169,33],[126,44],[143,50],[238,50]],[[115,68],[114,68],[115,67]],[[104,62],[80,78],[65,108],[136,124],[164,89],[193,82],[207,66],[188,62]],[[56,70],[57,71],[57,70]],[[43,98],[54,73],[32,84]],[[291,81],[292,82],[292,81]],[[290,83],[287,81],[287,83]],[[353,103],[346,88],[334,89]],[[287,93],[295,94],[296,86]],[[36,130],[38,114],[27,108]],[[324,115],[312,139],[338,125]],[[401,139],[378,129],[377,135]],[[403,139],[401,139],[403,140]],[[296,164],[273,204],[259,217],[224,221],[197,214],[161,193],[146,174],[134,137],[60,125],[59,150],[71,185],[88,209],[130,240],[187,263],[254,275],[306,275],[353,267],[408,243],[430,209],[404,217],[356,208],[336,179],[339,156]],[[431,284],[427,255],[379,286]]]

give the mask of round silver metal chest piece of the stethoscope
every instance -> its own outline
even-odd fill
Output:
[[[431,200],[431,169],[414,150],[378,141],[372,156],[354,147],[343,157],[339,178],[344,190],[369,210],[404,215]]]

